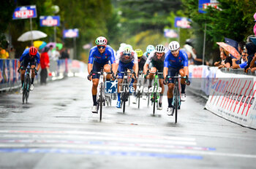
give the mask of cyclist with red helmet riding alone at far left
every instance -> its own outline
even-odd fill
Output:
[[[25,79],[25,68],[27,68],[30,64],[30,68],[32,69],[31,74],[31,86],[30,90],[34,90],[34,76],[37,75],[37,71],[40,68],[40,54],[37,51],[36,47],[29,47],[24,50],[23,54],[20,57],[20,60],[18,60],[18,72],[20,73],[20,79],[21,79],[21,88],[20,93],[23,93],[23,84]],[[37,66],[37,68],[36,68]]]

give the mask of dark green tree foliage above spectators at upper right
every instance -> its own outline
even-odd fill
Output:
[[[205,14],[198,12],[198,0],[182,0],[185,14],[193,20],[194,34],[196,37],[197,52],[203,50],[203,31],[205,23],[206,53],[218,58],[216,42],[223,42],[224,38],[245,41],[246,36],[253,33],[253,15],[256,11],[256,2],[250,0],[218,0],[219,9],[209,7]],[[215,52],[215,54],[211,53]],[[208,57],[209,58],[209,57]]]

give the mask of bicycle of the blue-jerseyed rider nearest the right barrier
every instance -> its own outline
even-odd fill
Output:
[[[175,111],[175,123],[177,123],[178,119],[178,109],[181,109],[181,95],[180,90],[178,87],[179,79],[186,79],[186,84],[189,85],[189,79],[188,76],[180,76],[176,73],[176,76],[167,76],[166,78],[168,82],[170,82],[170,79],[174,79],[174,90],[173,90],[173,111]]]

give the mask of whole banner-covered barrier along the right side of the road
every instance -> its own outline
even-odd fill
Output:
[[[256,129],[256,76],[244,69],[189,66],[189,91],[207,99],[206,109]]]

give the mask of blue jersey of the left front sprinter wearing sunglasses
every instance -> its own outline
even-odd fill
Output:
[[[112,47],[107,46],[105,52],[102,54],[99,52],[97,46],[91,48],[88,63],[92,64],[94,61],[97,63],[107,63],[109,60],[111,64],[115,63],[116,60]]]

